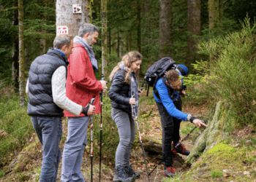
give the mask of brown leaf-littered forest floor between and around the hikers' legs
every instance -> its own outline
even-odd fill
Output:
[[[200,108],[199,108],[200,107]],[[151,102],[143,102],[140,104],[140,112],[148,112],[151,111],[151,115],[148,116],[147,126],[144,125],[144,122],[140,122],[140,132],[143,138],[143,145],[146,146],[148,140],[156,143],[158,148],[161,150],[162,147],[162,127],[160,124],[160,117],[159,112],[157,110],[156,103]],[[192,114],[193,116],[201,116],[203,111],[203,106],[184,106],[184,112]],[[67,121],[63,120],[63,133],[67,135]],[[188,122],[181,122],[181,130],[187,130],[187,125],[190,127],[194,127],[194,124],[190,124]],[[136,135],[138,135],[138,128],[135,126]],[[90,132],[88,130],[88,132]],[[182,134],[181,138],[184,138],[185,135],[189,130]],[[184,141],[184,146],[187,147],[188,150],[192,149],[192,143],[195,141],[196,137],[199,135],[199,132],[194,132],[189,135],[186,141]],[[194,135],[194,137],[193,137]],[[30,162],[24,162],[26,165],[21,165],[19,170],[10,170],[9,172],[4,175],[3,178],[0,178],[1,182],[4,181],[39,181],[39,171],[40,166],[42,165],[42,146],[38,143],[37,136],[34,134],[31,138],[30,143],[34,143],[37,141],[37,144],[34,145],[34,149],[26,151],[25,156],[29,157]],[[61,151],[63,150],[64,142],[61,141],[60,143]],[[90,146],[87,145],[86,149],[89,150]],[[144,148],[145,149],[145,148]],[[161,153],[161,152],[160,152]],[[162,154],[155,153],[155,152],[145,152],[146,154],[146,162],[148,167],[148,173],[154,169],[154,167],[159,164],[162,160]],[[180,157],[179,157],[180,156]],[[181,159],[182,157],[182,159]],[[186,160],[187,156],[176,154],[173,156],[173,167],[176,170],[181,171],[184,169],[184,161]],[[136,181],[148,181],[148,176],[146,175],[146,167],[144,164],[143,153],[140,146],[136,146],[135,149],[132,149],[130,162],[132,163],[133,169],[140,174],[140,179]],[[165,181],[167,177],[163,175],[164,165],[159,165],[153,173],[149,176],[150,181]],[[86,181],[91,181],[91,158],[90,155],[86,154],[83,155],[83,162],[82,162],[82,172],[85,177]],[[19,173],[17,173],[19,171]],[[110,162],[106,163],[104,159],[102,159],[102,170],[101,170],[101,181],[113,181],[113,175],[115,173],[114,164]],[[58,173],[58,180],[60,181],[60,174],[61,174],[61,163],[59,165],[59,173]],[[94,181],[99,181],[99,157],[94,157]]]

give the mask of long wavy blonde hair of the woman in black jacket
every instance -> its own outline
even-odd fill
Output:
[[[131,66],[132,63],[134,63],[137,60],[142,60],[143,56],[140,54],[140,52],[137,51],[132,51],[132,52],[128,52],[126,55],[123,56],[123,58],[121,59],[121,61],[117,64],[117,66],[115,66],[113,68],[113,71],[111,72],[109,78],[110,81],[113,79],[113,76],[116,74],[116,72],[120,69],[119,65],[121,63],[124,63],[125,66],[127,66],[127,68],[129,68],[128,73],[125,73],[125,78],[124,78],[124,82],[126,82],[127,84],[129,83],[129,75],[132,72]]]

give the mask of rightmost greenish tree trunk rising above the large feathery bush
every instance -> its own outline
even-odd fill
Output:
[[[217,23],[222,20],[223,16],[223,0],[209,0],[208,1],[209,12],[209,28],[216,28]]]

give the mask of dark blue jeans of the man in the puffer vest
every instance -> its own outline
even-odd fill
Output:
[[[40,182],[55,182],[61,161],[61,117],[31,116],[31,122],[43,147]]]

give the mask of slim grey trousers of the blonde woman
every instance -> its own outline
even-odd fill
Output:
[[[119,144],[116,149],[116,168],[129,165],[129,155],[135,140],[135,122],[132,116],[118,108],[112,108],[111,116],[118,129]]]

